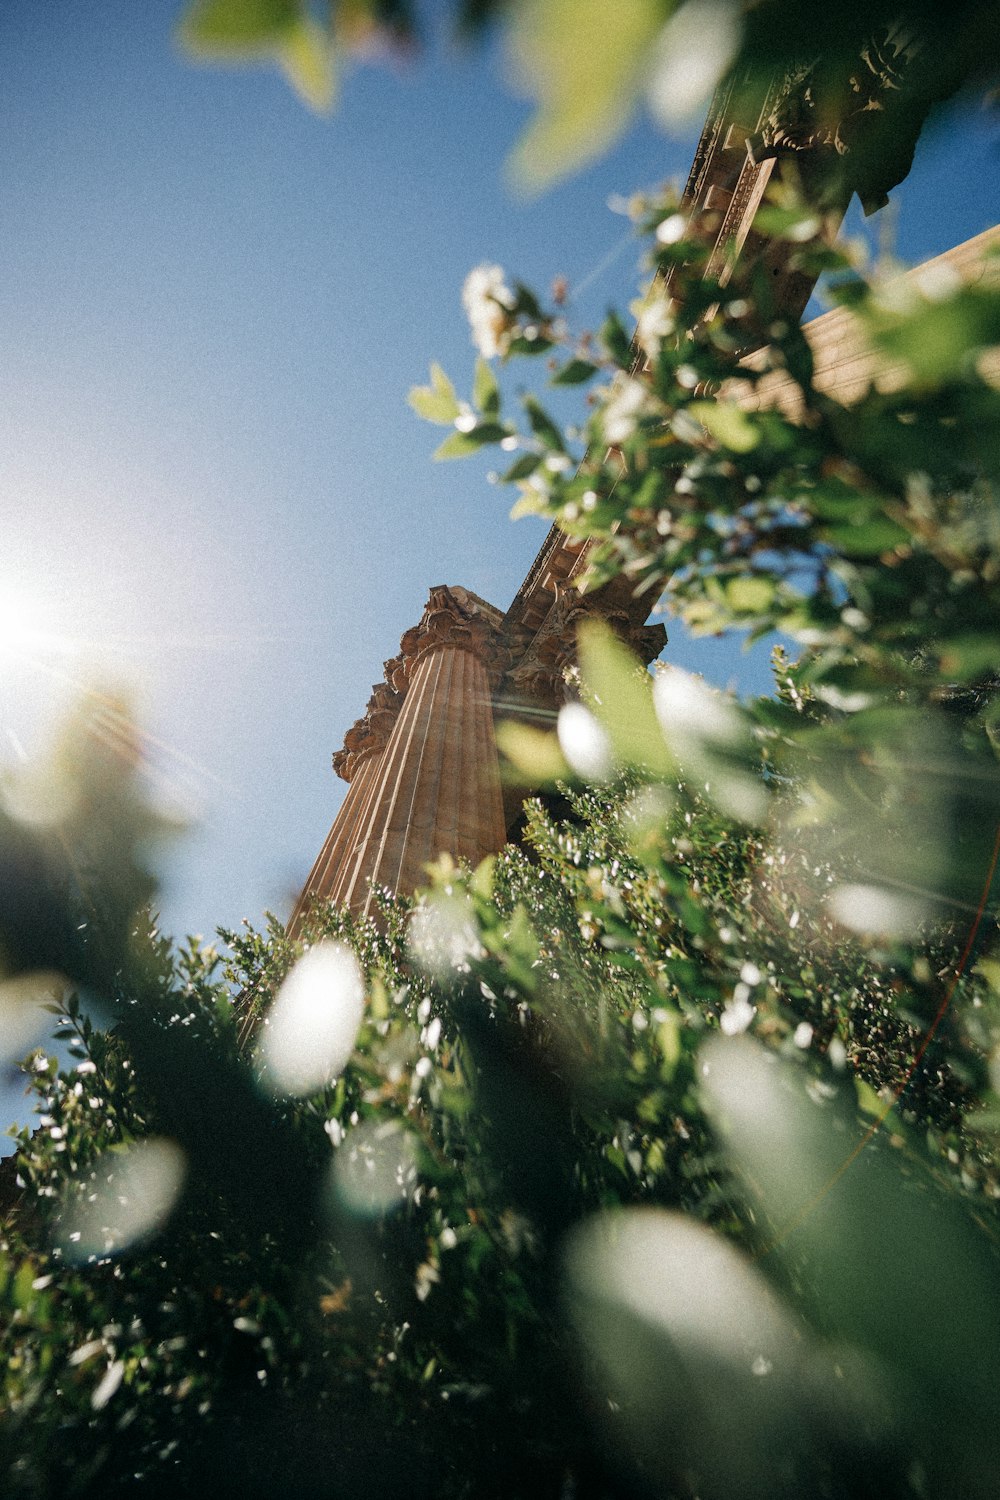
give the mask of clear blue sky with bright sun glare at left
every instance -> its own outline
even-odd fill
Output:
[[[682,182],[697,128],[640,123],[523,202],[502,160],[526,105],[496,50],[435,40],[439,9],[427,56],[354,70],[330,120],[276,74],[192,66],[178,9],[0,9],[0,621],[75,642],[0,654],[0,760],[36,753],[73,680],[124,684],[190,819],[163,926],[210,936],[288,912],[345,789],[330,754],[427,588],[507,606],[544,534],[490,460],[433,465],[405,405],[430,358],[471,374],[466,272],[565,274],[582,324],[627,304],[607,198]],[[973,117],[924,142],[889,210],[903,256],[997,220],[999,142]],[[670,628],[672,660],[766,687],[760,656]]]

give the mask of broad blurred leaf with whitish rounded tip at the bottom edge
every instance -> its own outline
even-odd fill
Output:
[[[691,1218],[625,1209],[585,1221],[565,1274],[574,1323],[624,1413],[606,1418],[609,1438],[625,1440],[646,1484],[655,1476],[654,1494],[793,1500],[814,1491],[826,1443],[879,1424],[861,1362],[850,1384],[837,1382],[760,1270]]]

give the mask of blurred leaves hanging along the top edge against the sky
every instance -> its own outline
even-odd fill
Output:
[[[451,9],[460,40],[501,27],[510,81],[535,105],[508,162],[526,192],[600,156],[643,106],[667,129],[687,126],[720,81],[738,81],[759,102],[775,76],[816,58],[817,116],[841,122],[858,105],[862,48],[898,28],[924,39],[921,57],[889,123],[867,122],[867,150],[852,141],[864,200],[867,172],[879,180],[886,159],[906,174],[900,138],[916,140],[931,104],[970,81],[988,92],[997,75],[991,0],[838,0],[822,14],[799,0],[618,0],[613,12],[603,0],[454,0]],[[307,105],[327,111],[346,62],[409,58],[421,21],[415,0],[187,0],[178,38],[198,60],[274,63]]]

